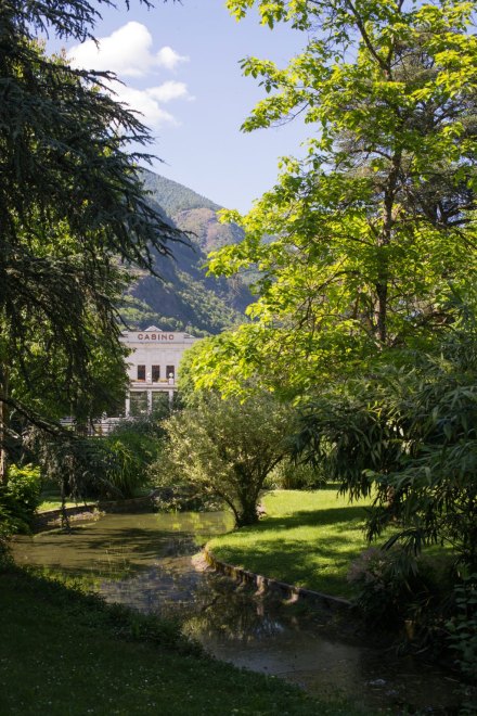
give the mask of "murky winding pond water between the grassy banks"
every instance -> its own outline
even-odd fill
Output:
[[[237,588],[197,554],[232,526],[221,512],[107,514],[70,534],[17,538],[18,563],[88,579],[107,601],[176,617],[205,649],[323,696],[389,713],[454,713],[456,682],[435,667],[396,659],[326,609],[284,604]]]

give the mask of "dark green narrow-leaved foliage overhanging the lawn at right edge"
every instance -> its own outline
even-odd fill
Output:
[[[408,552],[447,542],[477,564],[477,342],[470,306],[440,356],[404,356],[372,378],[332,386],[302,417],[297,447],[352,497],[374,496],[369,536],[386,525]]]

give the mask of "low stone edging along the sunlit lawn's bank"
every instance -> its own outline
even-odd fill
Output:
[[[217,570],[217,572],[221,572],[236,581],[253,585],[257,587],[260,592],[270,589],[272,591],[281,592],[294,601],[297,601],[298,599],[314,600],[333,610],[347,611],[351,608],[351,602],[347,599],[332,597],[331,594],[324,594],[320,591],[313,591],[312,589],[305,589],[304,587],[295,587],[285,581],[263,577],[261,574],[255,574],[255,572],[250,572],[249,570],[244,570],[243,567],[221,562],[214,557],[214,554],[207,549],[207,546],[204,548],[204,558],[207,564],[214,570]]]

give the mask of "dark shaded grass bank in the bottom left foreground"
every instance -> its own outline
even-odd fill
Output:
[[[202,655],[177,627],[11,568],[0,574],[0,713],[352,716]]]

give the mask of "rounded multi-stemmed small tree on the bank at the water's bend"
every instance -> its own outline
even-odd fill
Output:
[[[245,402],[203,397],[164,423],[167,451],[158,471],[162,482],[185,481],[232,510],[236,526],[258,521],[265,481],[286,453],[291,411],[269,394]]]

